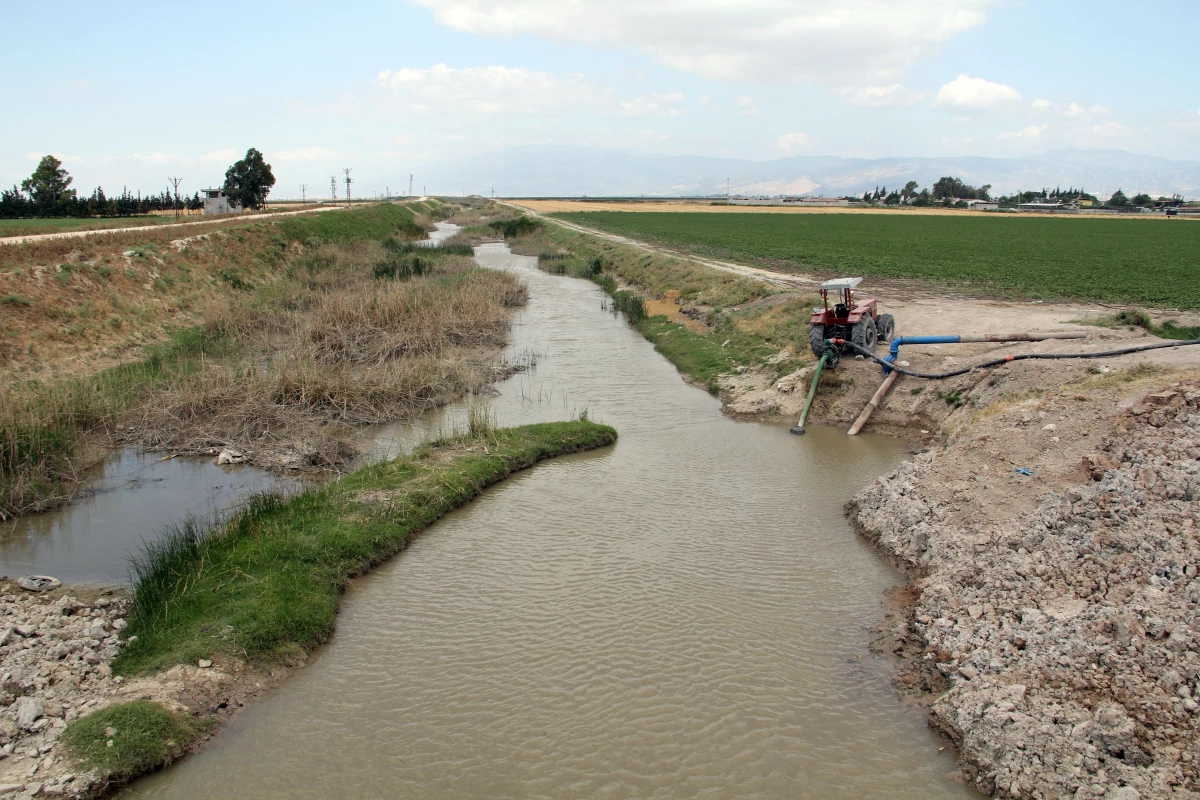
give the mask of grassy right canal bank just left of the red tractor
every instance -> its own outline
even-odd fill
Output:
[[[659,353],[714,395],[720,391],[719,378],[739,368],[768,368],[782,375],[810,360],[811,297],[756,302],[778,290],[761,281],[560,225],[511,233],[514,252],[538,255],[542,269],[599,283],[612,296],[614,311],[624,312]],[[679,309],[647,313],[646,300],[664,297],[668,307],[670,299],[677,299]],[[653,303],[649,307],[654,309]]]

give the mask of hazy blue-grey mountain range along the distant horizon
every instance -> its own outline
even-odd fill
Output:
[[[1123,150],[1052,150],[1022,158],[841,158],[772,161],[666,156],[604,148],[523,146],[428,163],[413,170],[434,194],[497,197],[686,197],[725,194],[862,194],[876,186],[931,186],[943,175],[992,185],[992,193],[1082,186],[1093,194],[1200,197],[1200,161],[1170,161]],[[395,182],[407,182],[407,175]]]

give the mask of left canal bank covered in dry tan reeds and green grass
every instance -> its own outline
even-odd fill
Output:
[[[158,277],[179,281],[138,283],[150,295],[143,300],[150,308],[163,303],[160,297],[179,302],[185,283],[193,294],[206,291],[200,324],[133,362],[6,387],[0,516],[64,501],[80,468],[95,459],[95,445],[176,452],[230,446],[264,465],[336,467],[353,455],[354,426],[486,383],[491,366],[481,350],[504,343],[508,308],[523,302],[523,289],[457,253],[409,252],[403,240],[420,233],[410,210],[379,205],[157,249]],[[31,247],[34,258],[46,249]],[[92,253],[85,267],[92,284],[113,276],[102,275],[110,255]],[[20,254],[0,248],[0,257]],[[136,279],[145,277],[139,271]],[[47,301],[23,311],[32,324],[53,307]],[[271,462],[280,453],[287,461]]]

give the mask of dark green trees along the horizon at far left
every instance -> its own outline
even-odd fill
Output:
[[[74,179],[54,156],[43,156],[34,174],[13,186],[0,191],[0,217],[128,217],[152,211],[197,211],[204,207],[200,193],[192,197],[172,194],[164,190],[161,194],[142,192],[132,194],[128,187],[122,188],[116,197],[108,197],[97,186],[90,196],[80,196],[71,188]],[[246,157],[235,162],[226,170],[222,190],[232,204],[246,209],[260,209],[266,203],[266,196],[275,186],[271,166],[263,154],[251,148]]]

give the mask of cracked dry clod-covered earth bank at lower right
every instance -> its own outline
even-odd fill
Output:
[[[1200,381],[1146,384],[989,409],[848,505],[911,577],[898,687],[984,792],[1200,798]]]

